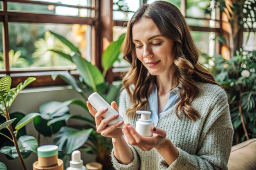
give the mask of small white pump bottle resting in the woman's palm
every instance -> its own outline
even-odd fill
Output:
[[[137,114],[141,114],[141,118],[136,121],[135,130],[141,136],[152,136],[153,132],[151,132],[150,128],[154,126],[154,122],[149,119],[151,112],[137,110]]]

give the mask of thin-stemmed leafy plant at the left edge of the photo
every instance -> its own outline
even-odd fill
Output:
[[[0,152],[7,155],[9,159],[19,158],[23,170],[27,169],[23,159],[27,158],[31,152],[36,153],[38,143],[35,137],[26,135],[24,126],[31,119],[22,113],[9,114],[9,108],[20,91],[35,79],[29,77],[23,84],[20,83],[14,88],[11,88],[10,76],[0,79]],[[0,169],[6,170],[4,163],[0,162]]]

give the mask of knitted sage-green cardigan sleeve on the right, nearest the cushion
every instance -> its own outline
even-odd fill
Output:
[[[170,166],[163,158],[158,163],[163,170],[227,170],[234,129],[231,123],[227,95],[223,91],[214,100],[209,119],[204,125],[203,135],[196,155],[177,148],[179,155]]]

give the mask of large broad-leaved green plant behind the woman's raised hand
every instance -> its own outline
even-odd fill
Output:
[[[119,40],[112,42],[102,57],[103,73],[97,66],[92,65],[82,57],[79,49],[62,35],[58,35],[50,31],[58,40],[65,44],[74,55],[60,51],[59,49],[50,49],[50,51],[66,58],[70,62],[76,64],[79,71],[79,79],[76,79],[68,71],[52,75],[52,79],[61,77],[67,84],[71,85],[74,90],[81,95],[83,101],[79,99],[71,99],[66,102],[52,101],[40,106],[39,113],[34,119],[36,130],[44,135],[51,136],[59,130],[54,137],[54,144],[59,146],[59,155],[64,160],[64,166],[67,166],[70,160],[70,154],[73,150],[79,149],[97,156],[97,161],[103,163],[103,168],[111,167],[110,151],[112,142],[110,138],[102,137],[96,132],[93,117],[85,117],[81,114],[70,114],[68,106],[77,104],[84,108],[87,115],[90,115],[85,104],[88,96],[93,92],[98,92],[107,102],[117,101],[121,83],[109,84],[104,77],[113,63],[119,59],[121,44],[125,35],[121,35]],[[91,116],[91,115],[90,115]],[[85,121],[84,126],[67,125],[69,119],[80,119]],[[41,128],[41,127],[44,128]],[[39,128],[40,127],[40,128]]]

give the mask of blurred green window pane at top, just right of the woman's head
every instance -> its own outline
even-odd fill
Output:
[[[210,0],[186,0],[186,15],[193,18],[206,18],[205,9]]]

